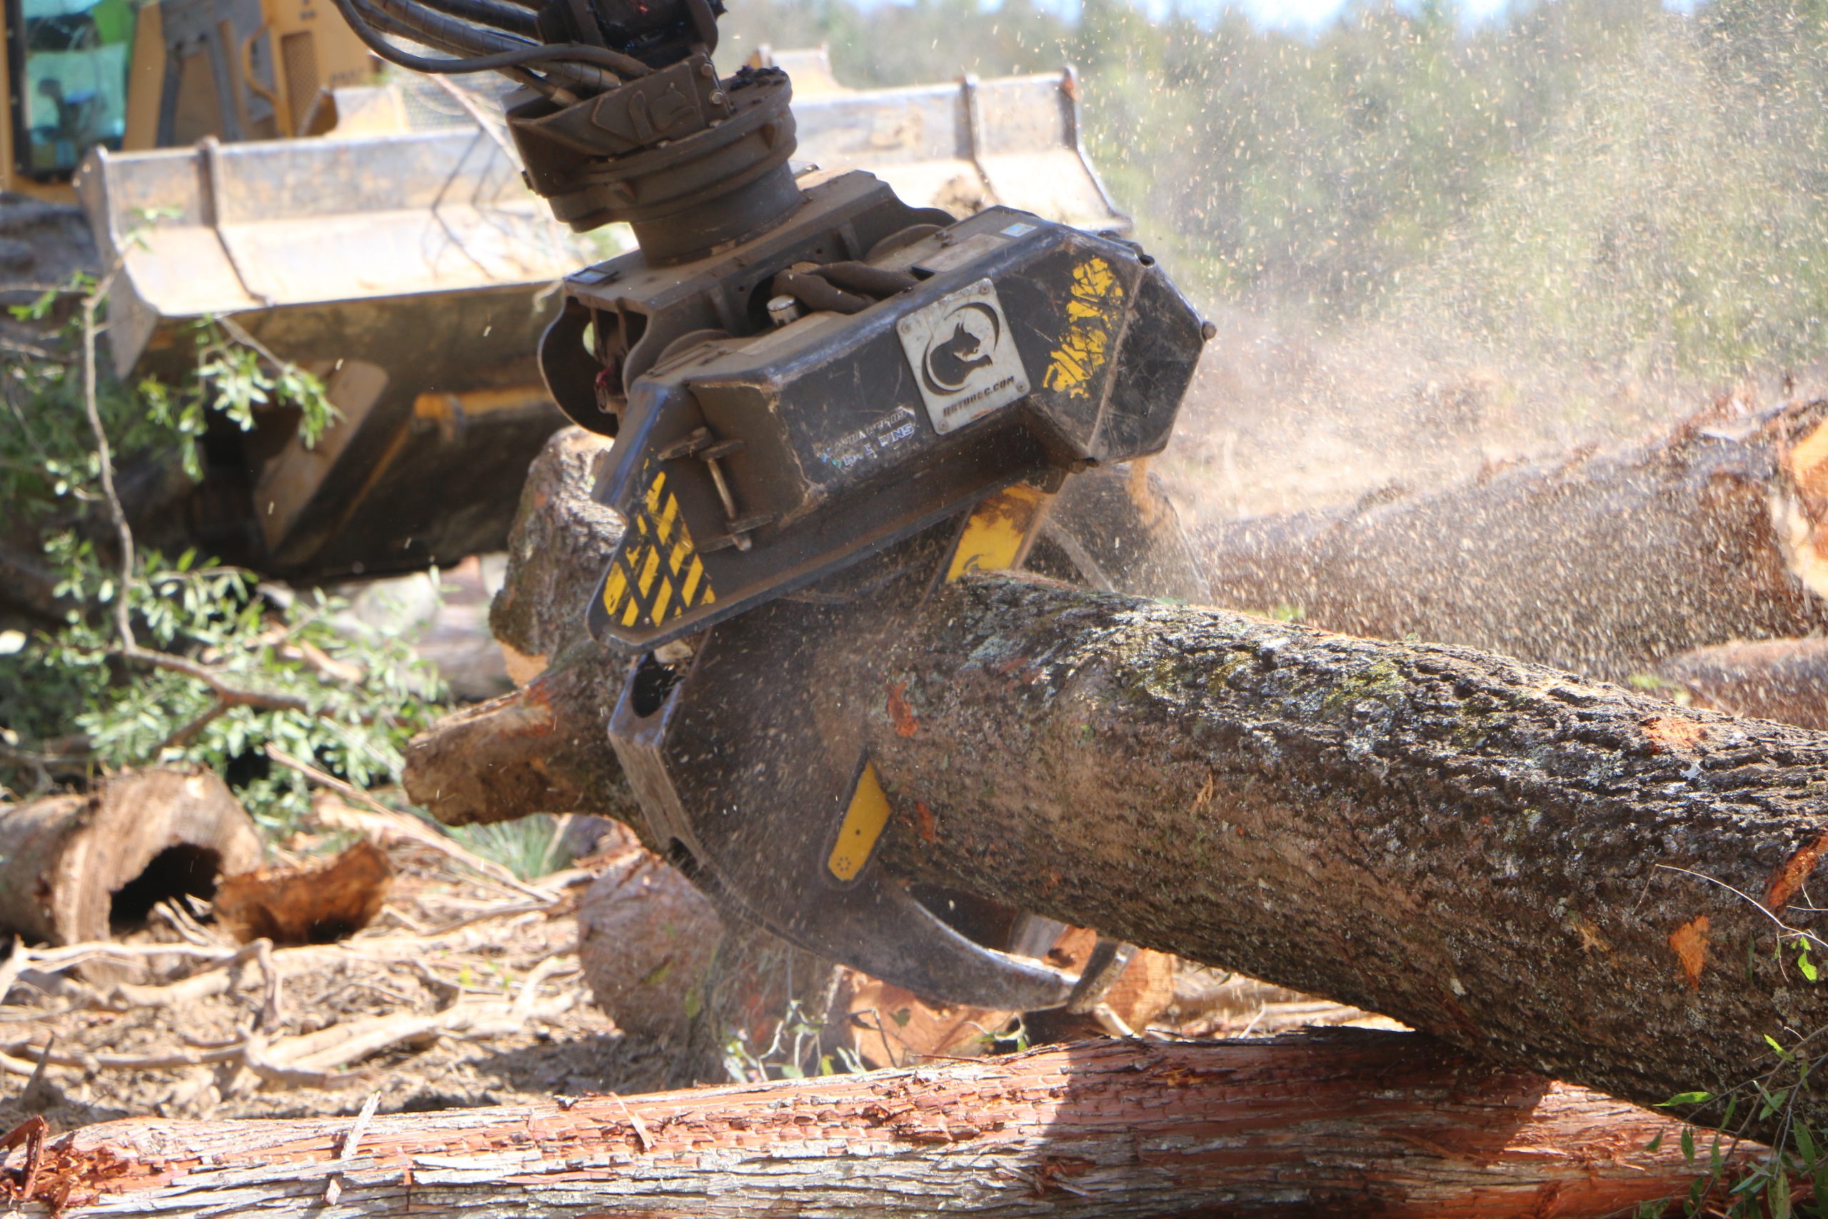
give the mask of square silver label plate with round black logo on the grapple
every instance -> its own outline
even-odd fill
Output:
[[[896,323],[934,431],[945,435],[1029,391],[996,285],[978,280]]]

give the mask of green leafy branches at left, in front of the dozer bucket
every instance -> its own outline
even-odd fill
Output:
[[[91,292],[93,281],[69,289]],[[55,294],[16,311],[44,320]],[[391,780],[400,747],[435,713],[437,678],[400,638],[338,621],[322,592],[258,583],[194,550],[121,548],[88,424],[79,322],[51,358],[13,360],[0,382],[0,503],[7,543],[37,543],[62,623],[15,631],[0,654],[0,788],[150,762],[227,773],[260,821],[285,826],[307,808],[303,780],[274,746],[355,784]],[[179,386],[101,376],[95,406],[117,470],[146,459],[197,477],[212,419],[250,429],[258,408],[296,413],[307,440],[331,420],[322,384],[238,338],[232,323],[192,331],[196,375]],[[24,525],[26,528],[18,528]],[[117,629],[124,605],[132,645]]]

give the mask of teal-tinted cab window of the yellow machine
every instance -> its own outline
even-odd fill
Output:
[[[13,148],[26,177],[68,177],[95,144],[121,148],[133,55],[132,0],[7,0],[15,40]]]

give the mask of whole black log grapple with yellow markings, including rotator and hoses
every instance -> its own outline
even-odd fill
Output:
[[[532,188],[640,243],[567,278],[539,356],[616,439],[596,495],[627,528],[587,614],[629,658],[609,733],[654,839],[731,914],[918,994],[1086,1002],[1117,945],[1068,976],[876,866],[898,800],[863,720],[910,610],[1020,565],[1066,479],[1166,444],[1210,329],[1115,234],[797,174],[786,75],[711,64],[718,0],[338,7],[408,68],[519,80]],[[1082,552],[1144,528],[1089,519]]]

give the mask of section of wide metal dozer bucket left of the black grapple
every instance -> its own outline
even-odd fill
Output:
[[[102,265],[121,260],[122,376],[183,376],[188,327],[232,316],[325,378],[340,420],[250,488],[261,567],[377,572],[501,545],[563,422],[532,358],[552,289],[601,250],[559,232],[490,133],[97,150],[77,190]]]

